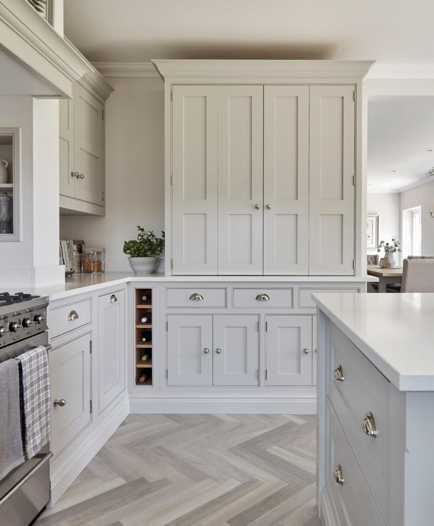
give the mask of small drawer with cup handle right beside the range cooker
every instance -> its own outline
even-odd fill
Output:
[[[91,301],[90,298],[87,298],[51,309],[48,320],[50,338],[56,338],[90,323],[92,321]]]

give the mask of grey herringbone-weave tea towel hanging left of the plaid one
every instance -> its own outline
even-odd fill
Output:
[[[23,462],[18,362],[11,359],[0,363],[0,480]]]

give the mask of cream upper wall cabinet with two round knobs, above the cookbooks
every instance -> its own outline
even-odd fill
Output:
[[[60,208],[105,214],[104,100],[76,82],[74,98],[59,102]]]

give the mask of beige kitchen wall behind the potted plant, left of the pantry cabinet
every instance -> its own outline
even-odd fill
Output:
[[[60,236],[106,249],[107,271],[130,271],[124,240],[136,225],[164,230],[164,84],[112,77],[106,103],[106,216],[62,216]]]

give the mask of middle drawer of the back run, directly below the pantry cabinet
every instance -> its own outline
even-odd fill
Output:
[[[292,289],[233,289],[234,308],[292,308]]]

